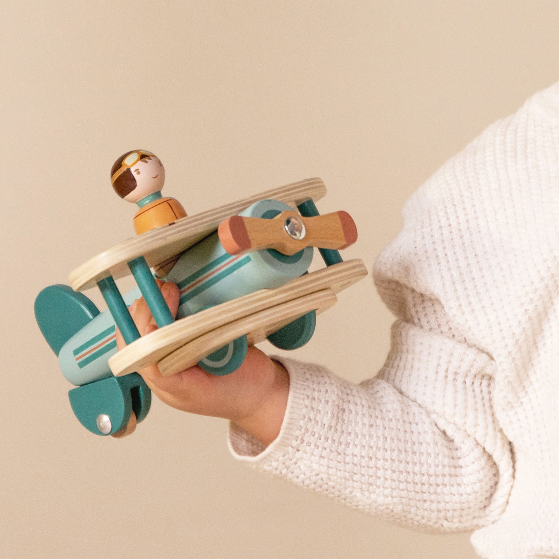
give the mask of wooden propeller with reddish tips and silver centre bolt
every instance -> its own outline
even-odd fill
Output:
[[[234,215],[220,223],[217,233],[229,254],[273,248],[291,256],[305,247],[340,250],[357,240],[355,223],[345,211],[302,217],[286,210],[273,219]]]

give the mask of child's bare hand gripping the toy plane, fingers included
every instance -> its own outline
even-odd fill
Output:
[[[158,281],[173,316],[179,303],[178,287]],[[141,335],[157,330],[144,298],[136,299],[130,314]],[[126,344],[116,331],[117,348]],[[138,371],[160,400],[173,408],[194,414],[230,419],[262,444],[270,444],[280,433],[289,394],[286,369],[255,347],[239,369],[214,376],[197,365],[176,375],[163,377],[157,365]]]

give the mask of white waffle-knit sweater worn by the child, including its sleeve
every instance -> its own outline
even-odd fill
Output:
[[[559,84],[415,192],[373,272],[397,318],[378,375],[280,359],[279,437],[231,425],[231,451],[392,522],[476,529],[482,557],[559,557]]]

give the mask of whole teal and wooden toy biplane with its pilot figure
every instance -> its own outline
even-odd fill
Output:
[[[138,236],[75,269],[71,287],[46,287],[35,300],[41,332],[77,386],[69,391],[74,414],[97,435],[124,437],[148,414],[151,392],[138,369],[158,364],[162,375],[172,375],[198,364],[228,375],[243,364],[248,345],[268,339],[280,349],[302,347],[316,315],[367,275],[361,260],[340,257],[357,229],[344,211],[319,215],[314,201],[326,188],[318,178],[186,216],[178,201],[162,197],[164,177],[154,154],[122,155],[111,182],[140,207]],[[312,247],[326,268],[307,273]],[[115,279],[130,273],[137,287],[123,297]],[[154,276],[178,285],[176,319]],[[79,292],[95,285],[104,312]],[[144,337],[127,308],[141,296],[158,325]],[[119,352],[116,327],[127,344]]]

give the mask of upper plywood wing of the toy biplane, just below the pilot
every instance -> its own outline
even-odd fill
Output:
[[[173,224],[127,239],[91,258],[69,274],[70,286],[74,291],[82,291],[94,287],[107,276],[113,276],[115,280],[125,277],[130,274],[127,262],[142,255],[149,266],[163,262],[215,231],[224,219],[238,214],[264,198],[298,204],[310,199],[320,200],[325,194],[324,182],[320,178],[309,178],[272,188],[201,214],[183,217]]]

